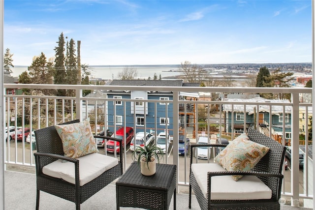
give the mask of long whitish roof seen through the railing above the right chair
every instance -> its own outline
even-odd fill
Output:
[[[264,103],[264,102],[269,102],[269,103],[282,103],[282,104],[288,104],[288,106],[285,106],[285,113],[289,113],[291,111],[291,106],[290,102],[288,100],[280,100],[280,99],[266,99],[262,97],[255,97],[251,99],[240,99],[240,98],[223,98],[223,101],[226,102],[242,102],[242,103],[247,103],[247,102],[253,102],[253,103]],[[244,105],[243,104],[223,104],[223,110],[224,111],[232,111],[232,105],[233,105],[233,110],[234,112],[244,112]],[[254,114],[256,111],[256,105],[246,105],[246,112],[248,114]],[[269,112],[269,105],[259,105],[259,112]],[[272,106],[272,113],[273,114],[281,114],[283,113],[283,106]]]

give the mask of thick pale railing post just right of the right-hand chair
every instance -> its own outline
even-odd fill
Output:
[[[292,198],[291,206],[299,206],[299,95],[298,93],[291,93],[292,113],[291,113],[291,189]],[[285,118],[285,116],[284,116]],[[285,136],[283,137],[285,140]]]

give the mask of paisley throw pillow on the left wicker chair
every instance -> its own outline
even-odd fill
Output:
[[[55,127],[63,142],[64,156],[77,158],[98,152],[89,119]]]

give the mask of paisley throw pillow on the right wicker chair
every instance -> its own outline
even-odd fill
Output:
[[[269,148],[252,142],[246,133],[235,138],[216,157],[215,161],[227,171],[250,171],[269,151]],[[242,175],[233,175],[233,180]]]

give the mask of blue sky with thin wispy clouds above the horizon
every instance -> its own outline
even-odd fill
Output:
[[[4,0],[14,65],[81,40],[81,63],[312,61],[311,0]]]

